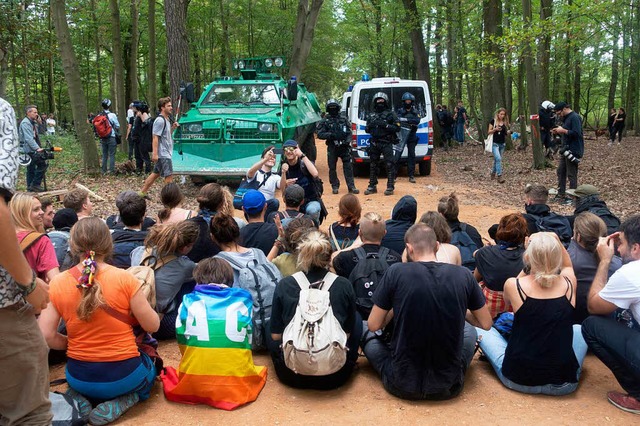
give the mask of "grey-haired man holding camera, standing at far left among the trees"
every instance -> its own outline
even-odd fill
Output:
[[[31,157],[27,166],[27,191],[43,192],[42,180],[47,171],[47,159],[38,137],[38,107],[27,105],[25,117],[18,128],[20,151]]]

